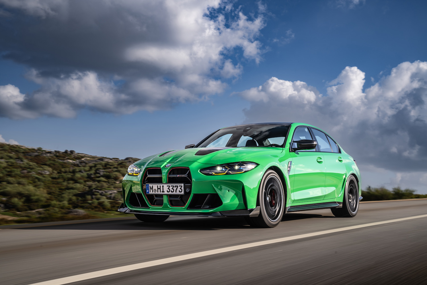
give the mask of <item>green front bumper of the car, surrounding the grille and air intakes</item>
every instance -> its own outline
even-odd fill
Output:
[[[256,167],[251,171],[241,174],[233,174],[227,176],[206,176],[199,172],[199,169],[201,169],[205,165],[202,165],[198,162],[181,162],[179,165],[173,165],[170,168],[159,166],[160,165],[151,165],[150,167],[145,167],[139,176],[126,175],[124,177],[122,182],[124,197],[123,208],[127,208],[129,209],[129,211],[133,211],[132,213],[151,214],[158,212],[161,214],[180,214],[195,216],[231,216],[235,215],[236,213],[240,213],[241,215],[249,215],[252,213],[251,210],[255,209],[257,206],[257,192],[259,188],[260,177],[262,177],[262,173],[264,170],[263,167]],[[172,199],[175,198],[170,198],[173,195],[163,195],[163,198],[161,197],[161,195],[157,195],[160,197],[156,197],[156,199],[163,200],[163,202],[156,203],[157,200],[152,200],[152,196],[149,197],[145,193],[144,182],[146,181],[146,178],[144,178],[144,175],[147,169],[151,168],[157,168],[156,171],[159,171],[158,174],[160,174],[161,170],[162,183],[173,183],[173,181],[168,181],[168,173],[172,169],[190,169],[191,184],[188,185],[188,182],[185,182],[185,187],[187,187],[187,185],[190,186],[191,191],[190,194],[188,194],[188,196],[186,197],[186,200],[183,201],[180,206],[173,204],[174,201]],[[152,173],[147,172],[147,175],[152,175]],[[157,183],[160,183],[160,180],[158,180]],[[216,201],[221,202],[212,203],[213,205],[209,207],[205,204],[199,207],[194,207],[194,205],[192,205],[192,203],[197,201],[199,198],[202,199],[202,195],[208,194],[213,195],[213,197],[216,197]],[[133,203],[131,200],[131,198],[135,197],[135,195],[139,199],[138,203]],[[227,212],[237,210],[239,211]],[[125,211],[126,210],[122,210],[120,212]],[[224,212],[225,214],[218,214]]]

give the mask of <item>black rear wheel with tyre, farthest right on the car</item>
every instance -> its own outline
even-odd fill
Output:
[[[359,211],[359,187],[354,176],[348,177],[345,185],[342,208],[331,208],[335,217],[354,217]]]

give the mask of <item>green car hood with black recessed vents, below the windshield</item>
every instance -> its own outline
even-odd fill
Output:
[[[179,162],[199,162],[209,165],[218,165],[229,162],[247,161],[254,156],[265,156],[281,153],[281,147],[196,147],[185,150],[173,150],[160,153],[135,162],[137,167],[155,167],[159,163],[167,162],[172,165]]]

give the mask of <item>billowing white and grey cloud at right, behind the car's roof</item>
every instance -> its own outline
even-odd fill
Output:
[[[240,92],[246,122],[310,123],[332,135],[358,164],[427,170],[427,62],[403,62],[363,90],[365,73],[346,67],[323,95],[304,82],[267,80]]]

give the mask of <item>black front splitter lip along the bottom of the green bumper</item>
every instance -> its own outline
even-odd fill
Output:
[[[220,211],[211,213],[197,213],[197,212],[159,212],[159,211],[146,211],[146,210],[132,210],[126,207],[123,203],[120,205],[118,212],[127,214],[151,214],[151,215],[168,215],[168,216],[198,216],[198,217],[234,217],[234,216],[248,216],[257,217],[260,214],[260,207],[248,210],[231,210]]]

